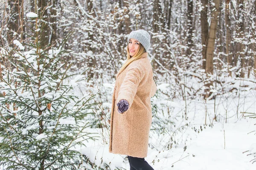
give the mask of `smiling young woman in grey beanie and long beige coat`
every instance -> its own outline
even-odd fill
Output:
[[[127,61],[116,75],[113,91],[109,152],[127,155],[130,170],[154,170],[144,159],[152,122],[150,98],[157,89],[149,48],[147,31],[129,34]]]

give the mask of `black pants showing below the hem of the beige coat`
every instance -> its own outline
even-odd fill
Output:
[[[154,170],[144,158],[128,156],[130,170]]]

